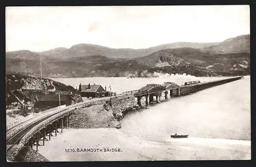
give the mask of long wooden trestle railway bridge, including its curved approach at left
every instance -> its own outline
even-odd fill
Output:
[[[118,96],[133,95],[134,98],[137,98],[138,105],[142,106],[143,104],[148,105],[152,102],[159,103],[161,97],[164,97],[164,99],[167,100],[169,97],[195,93],[206,88],[226,84],[227,82],[241,78],[242,76],[231,77],[186,86],[179,86],[174,82],[164,82],[162,85],[148,84],[140,90],[123,92],[123,94]],[[142,99],[145,99],[143,104]],[[111,100],[111,97],[104,97],[69,106],[55,107],[48,111],[44,111],[45,114],[39,118],[33,118],[8,129],[6,132],[7,159],[15,161],[15,156],[24,146],[33,147],[33,145],[35,145],[36,150],[38,150],[38,146],[44,146],[45,141],[50,141],[51,136],[54,136],[52,133],[55,133],[55,136],[57,136],[57,133],[62,132],[64,127],[68,128],[68,118],[75,109],[89,104],[102,104],[109,100]]]

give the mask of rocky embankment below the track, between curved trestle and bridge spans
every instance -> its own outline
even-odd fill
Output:
[[[103,104],[77,109],[70,116],[71,128],[116,128],[125,112],[136,109],[132,95],[112,97]]]

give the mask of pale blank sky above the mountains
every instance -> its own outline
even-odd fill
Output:
[[[6,7],[6,51],[148,48],[250,34],[249,5]]]

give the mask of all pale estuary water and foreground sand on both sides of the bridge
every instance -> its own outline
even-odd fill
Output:
[[[117,93],[164,81],[181,85],[184,81],[215,79],[221,78],[54,78],[74,88],[80,83],[111,86]],[[251,159],[250,77],[130,112],[121,124],[120,129],[64,129],[38,152],[50,161]],[[189,136],[170,138],[175,133]],[[97,148],[122,151],[65,151]]]

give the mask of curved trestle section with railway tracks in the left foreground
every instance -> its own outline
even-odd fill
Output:
[[[24,147],[44,146],[51,137],[63,132],[63,128],[68,128],[68,118],[74,110],[84,106],[102,104],[110,101],[111,97],[104,97],[95,100],[87,100],[73,105],[62,105],[45,110],[39,117],[32,118],[20,123],[6,131],[6,151],[7,160],[15,161],[18,152]],[[53,134],[52,134],[53,133]]]

